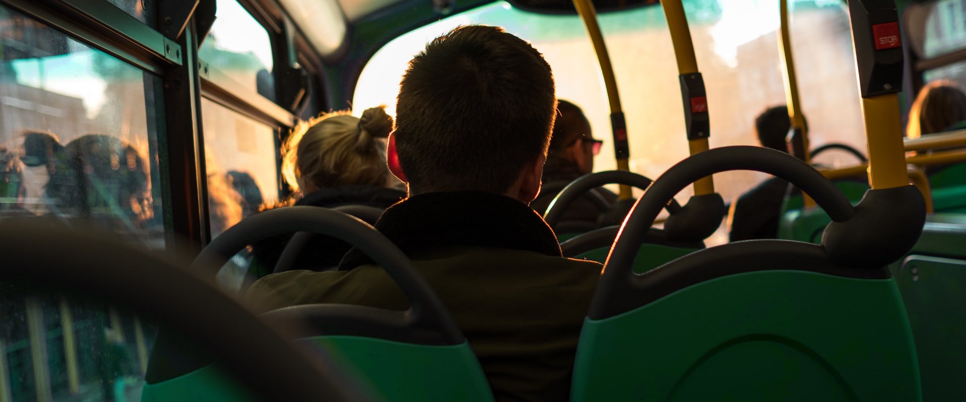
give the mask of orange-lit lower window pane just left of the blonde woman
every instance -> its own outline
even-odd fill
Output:
[[[278,201],[277,130],[203,99],[212,235]]]

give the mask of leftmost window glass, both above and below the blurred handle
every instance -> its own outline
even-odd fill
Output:
[[[0,48],[0,218],[83,220],[162,247],[160,79],[4,7]],[[0,400],[136,401],[151,333],[4,283]]]

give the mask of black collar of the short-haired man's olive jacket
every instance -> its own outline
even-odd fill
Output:
[[[477,245],[561,256],[554,231],[524,203],[480,191],[413,195],[385,210],[376,229],[403,253],[447,245]],[[358,248],[342,258],[340,270],[375,264]]]

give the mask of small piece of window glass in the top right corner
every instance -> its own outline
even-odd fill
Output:
[[[925,58],[966,47],[966,0],[939,0],[928,6],[925,18]]]

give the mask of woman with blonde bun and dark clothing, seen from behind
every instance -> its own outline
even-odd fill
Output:
[[[406,193],[387,188],[390,173],[385,165],[384,142],[379,140],[390,130],[392,117],[385,114],[383,106],[366,109],[361,118],[340,111],[299,124],[283,147],[282,164],[282,173],[297,191],[296,197],[281,206],[364,205],[385,209],[399,202]],[[252,247],[256,276],[272,272],[293,235],[275,236]],[[349,248],[350,244],[316,236],[302,248],[293,268],[334,268]]]

